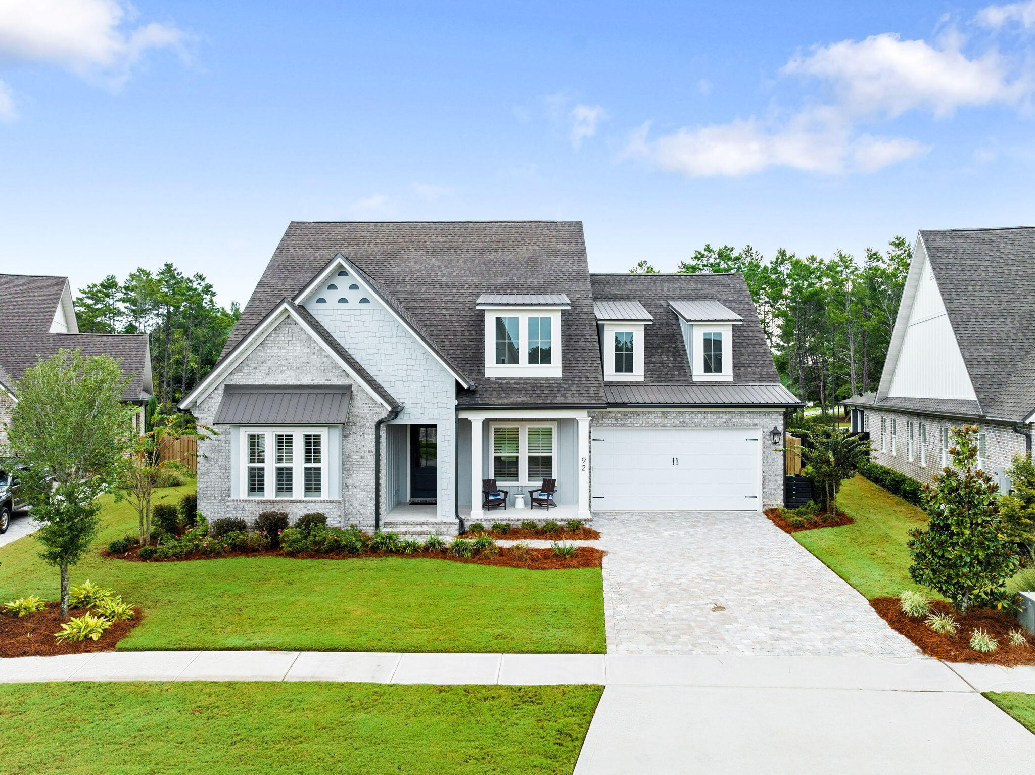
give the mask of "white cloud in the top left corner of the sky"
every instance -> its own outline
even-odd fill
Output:
[[[186,36],[151,22],[132,26],[136,10],[125,0],[0,0],[0,62],[51,64],[118,88],[152,49],[183,54]],[[13,112],[9,92],[0,94],[0,115]]]

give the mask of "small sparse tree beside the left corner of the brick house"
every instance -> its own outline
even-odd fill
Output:
[[[119,476],[119,500],[125,499],[137,512],[140,524],[140,542],[147,545],[151,540],[151,500],[154,494],[158,470],[165,467],[186,469],[180,463],[161,461],[161,448],[167,439],[193,436],[207,439],[204,433],[210,428],[198,426],[188,415],[152,415],[150,428],[134,438],[130,452],[121,468]],[[214,431],[212,431],[214,433]]]

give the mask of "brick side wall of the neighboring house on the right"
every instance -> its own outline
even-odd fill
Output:
[[[882,435],[882,420],[883,435]],[[892,437],[894,421],[894,437]],[[1026,452],[1025,438],[1013,431],[1013,425],[990,422],[965,422],[947,417],[933,417],[889,412],[887,410],[863,410],[862,429],[869,433],[874,444],[870,459],[882,466],[900,471],[919,482],[929,482],[942,470],[942,431],[960,425],[977,425],[984,434],[985,471],[995,475],[997,469],[1005,469],[1013,461],[1014,455]],[[910,428],[912,425],[912,454]],[[923,431],[926,430],[926,444]],[[951,443],[951,441],[950,441]]]

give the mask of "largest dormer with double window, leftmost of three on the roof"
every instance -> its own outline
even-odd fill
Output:
[[[560,377],[564,294],[482,294],[485,377]]]

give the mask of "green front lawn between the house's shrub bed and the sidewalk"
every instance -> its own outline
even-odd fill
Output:
[[[178,500],[188,487],[159,490]],[[110,504],[98,546],[132,530]],[[0,601],[58,597],[57,569],[26,536],[0,547]],[[445,560],[258,557],[131,563],[91,555],[71,570],[143,606],[118,648],[603,653],[599,568],[524,570]]]

